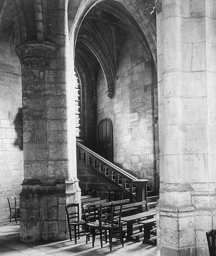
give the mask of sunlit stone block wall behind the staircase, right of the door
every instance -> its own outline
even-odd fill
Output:
[[[134,38],[127,36],[118,56],[112,99],[105,94],[101,69],[97,79],[97,125],[105,117],[112,121],[114,162],[139,178],[148,178],[151,188],[155,170],[153,113],[157,115],[152,64]]]

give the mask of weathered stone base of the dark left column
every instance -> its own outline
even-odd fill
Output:
[[[20,241],[55,241],[68,238],[64,205],[80,202],[78,180],[43,182],[27,179],[20,193]]]

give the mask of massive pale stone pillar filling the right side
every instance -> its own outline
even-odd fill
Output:
[[[208,255],[216,228],[216,1],[158,0],[157,255]]]

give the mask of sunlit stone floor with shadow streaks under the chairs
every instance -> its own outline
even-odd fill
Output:
[[[141,242],[131,242],[124,240],[124,247],[116,241],[113,244],[112,251],[109,251],[108,243],[100,248],[99,238],[95,240],[94,248],[91,243],[85,244],[85,237],[82,236],[77,244],[74,241],[64,240],[51,243],[23,243],[19,241],[19,224],[9,221],[0,222],[0,255],[18,256],[18,255],[71,255],[71,256],[156,256],[156,246],[143,244]]]

